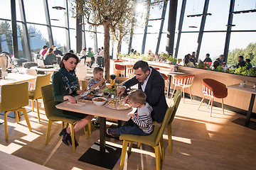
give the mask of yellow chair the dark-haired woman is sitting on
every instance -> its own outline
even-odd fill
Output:
[[[68,127],[68,123],[71,125],[71,140],[72,140],[72,147],[73,147],[73,152],[75,152],[75,135],[74,135],[74,123],[77,120],[73,120],[73,119],[69,119],[69,118],[64,118],[58,115],[55,115],[54,113],[54,98],[53,98],[53,85],[47,85],[47,86],[43,86],[41,88],[42,90],[42,96],[43,96],[43,105],[45,107],[45,111],[46,111],[46,116],[48,118],[48,128],[47,128],[47,133],[46,133],[46,145],[48,145],[49,142],[49,136],[50,136],[50,128],[53,122],[56,121],[62,121],[63,122],[63,127],[64,128],[64,123],[67,123],[67,127]],[[89,128],[91,126],[91,124],[89,123]],[[87,138],[89,138],[89,132],[88,132],[88,125],[85,126],[84,130],[85,130],[85,135]]]

